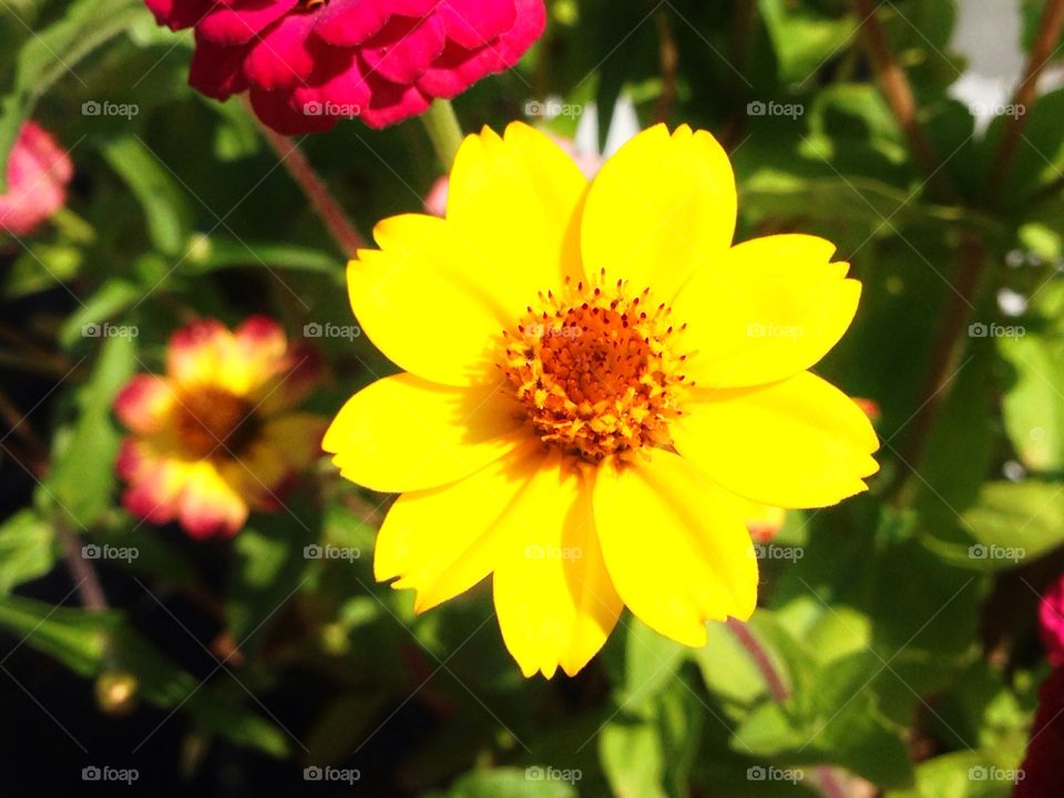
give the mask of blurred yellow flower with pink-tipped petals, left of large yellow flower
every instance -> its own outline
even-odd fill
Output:
[[[316,354],[266,317],[174,332],[166,374],[137,375],[114,403],[132,432],[116,464],[125,508],[194,538],[233,535],[249,510],[279,509],[320,451],[324,419],[295,410],[319,371]]]

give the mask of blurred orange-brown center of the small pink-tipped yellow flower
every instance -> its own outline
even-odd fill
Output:
[[[221,388],[198,388],[181,397],[174,428],[190,458],[235,458],[257,438],[259,421],[246,399]]]

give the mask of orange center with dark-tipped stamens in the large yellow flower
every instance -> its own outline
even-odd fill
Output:
[[[605,288],[569,280],[560,296],[540,295],[540,308],[515,332],[503,332],[501,365],[535,433],[592,463],[645,446],[669,446],[669,419],[694,383],[676,355],[686,327],[654,305],[649,288],[630,295],[623,280]]]

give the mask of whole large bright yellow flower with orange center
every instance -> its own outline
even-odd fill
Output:
[[[405,374],[350,399],[324,448],[401,492],[379,580],[426,611],[493,574],[530,676],[594,656],[622,606],[687,645],[746,620],[743,502],[866,489],[864,413],[806,369],[860,284],[802,235],[732,246],[736,190],[706,132],[657,126],[589,186],[545,135],[469,136],[444,219],[381,222],[348,267],[364,329]]]

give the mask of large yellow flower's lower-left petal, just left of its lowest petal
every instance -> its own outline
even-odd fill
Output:
[[[514,545],[500,522],[543,460],[534,441],[454,484],[403,493],[377,535],[377,580],[415,589],[417,612],[480,582]]]

